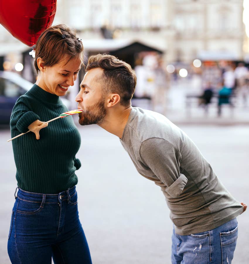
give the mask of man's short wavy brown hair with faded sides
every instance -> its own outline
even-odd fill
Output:
[[[86,71],[93,68],[102,68],[103,75],[99,77],[103,83],[105,93],[120,95],[120,104],[128,106],[135,92],[137,76],[132,67],[115,56],[98,54],[90,56]]]

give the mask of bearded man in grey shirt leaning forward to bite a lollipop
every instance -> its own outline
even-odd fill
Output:
[[[91,56],[76,96],[79,123],[118,136],[138,172],[161,187],[174,223],[172,263],[231,263],[236,217],[247,205],[231,196],[183,131],[161,114],[131,106],[135,86],[129,64]]]

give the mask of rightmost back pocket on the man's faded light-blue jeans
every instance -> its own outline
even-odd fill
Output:
[[[231,231],[220,233],[222,264],[231,263],[237,243],[237,238],[238,238],[238,225]]]

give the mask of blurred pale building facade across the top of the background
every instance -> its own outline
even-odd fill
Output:
[[[139,41],[165,52],[168,62],[243,60],[248,43],[243,0],[58,0],[58,23],[76,28],[83,43]],[[0,25],[0,56],[25,48]]]

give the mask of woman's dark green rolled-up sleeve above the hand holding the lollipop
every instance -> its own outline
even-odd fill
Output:
[[[28,126],[40,117],[33,111],[30,111],[28,104],[25,102],[25,97],[20,97],[12,110],[10,125],[16,126],[21,133],[28,131]]]

